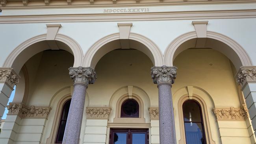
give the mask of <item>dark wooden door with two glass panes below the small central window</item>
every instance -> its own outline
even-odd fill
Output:
[[[109,144],[148,144],[148,129],[110,129]]]

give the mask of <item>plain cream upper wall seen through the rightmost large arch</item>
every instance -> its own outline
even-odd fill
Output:
[[[206,90],[215,107],[241,106],[230,61],[223,54],[212,49],[189,49],[176,57],[174,65],[178,70],[173,92],[193,85]]]

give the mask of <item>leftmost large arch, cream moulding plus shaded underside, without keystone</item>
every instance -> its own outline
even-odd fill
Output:
[[[74,55],[74,67],[81,65],[83,52],[79,44],[74,41],[74,39],[58,33],[54,40],[57,42],[62,42],[62,46],[65,47],[61,47],[61,49],[66,50]],[[19,72],[24,63],[26,63],[30,57],[39,52],[50,49],[45,41],[46,34],[43,34],[22,42],[22,44],[17,46],[11,52],[11,54],[8,55],[3,67],[11,67],[16,72]]]

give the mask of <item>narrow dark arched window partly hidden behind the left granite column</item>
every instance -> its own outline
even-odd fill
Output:
[[[59,120],[59,128],[57,132],[56,137],[56,144],[61,144],[64,136],[64,131],[67,123],[67,118],[69,114],[69,107],[70,107],[71,99],[67,100],[65,104],[63,105],[62,111],[61,111],[61,117]]]

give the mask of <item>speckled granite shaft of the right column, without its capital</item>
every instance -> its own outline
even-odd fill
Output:
[[[160,144],[176,144],[171,85],[158,85]]]

